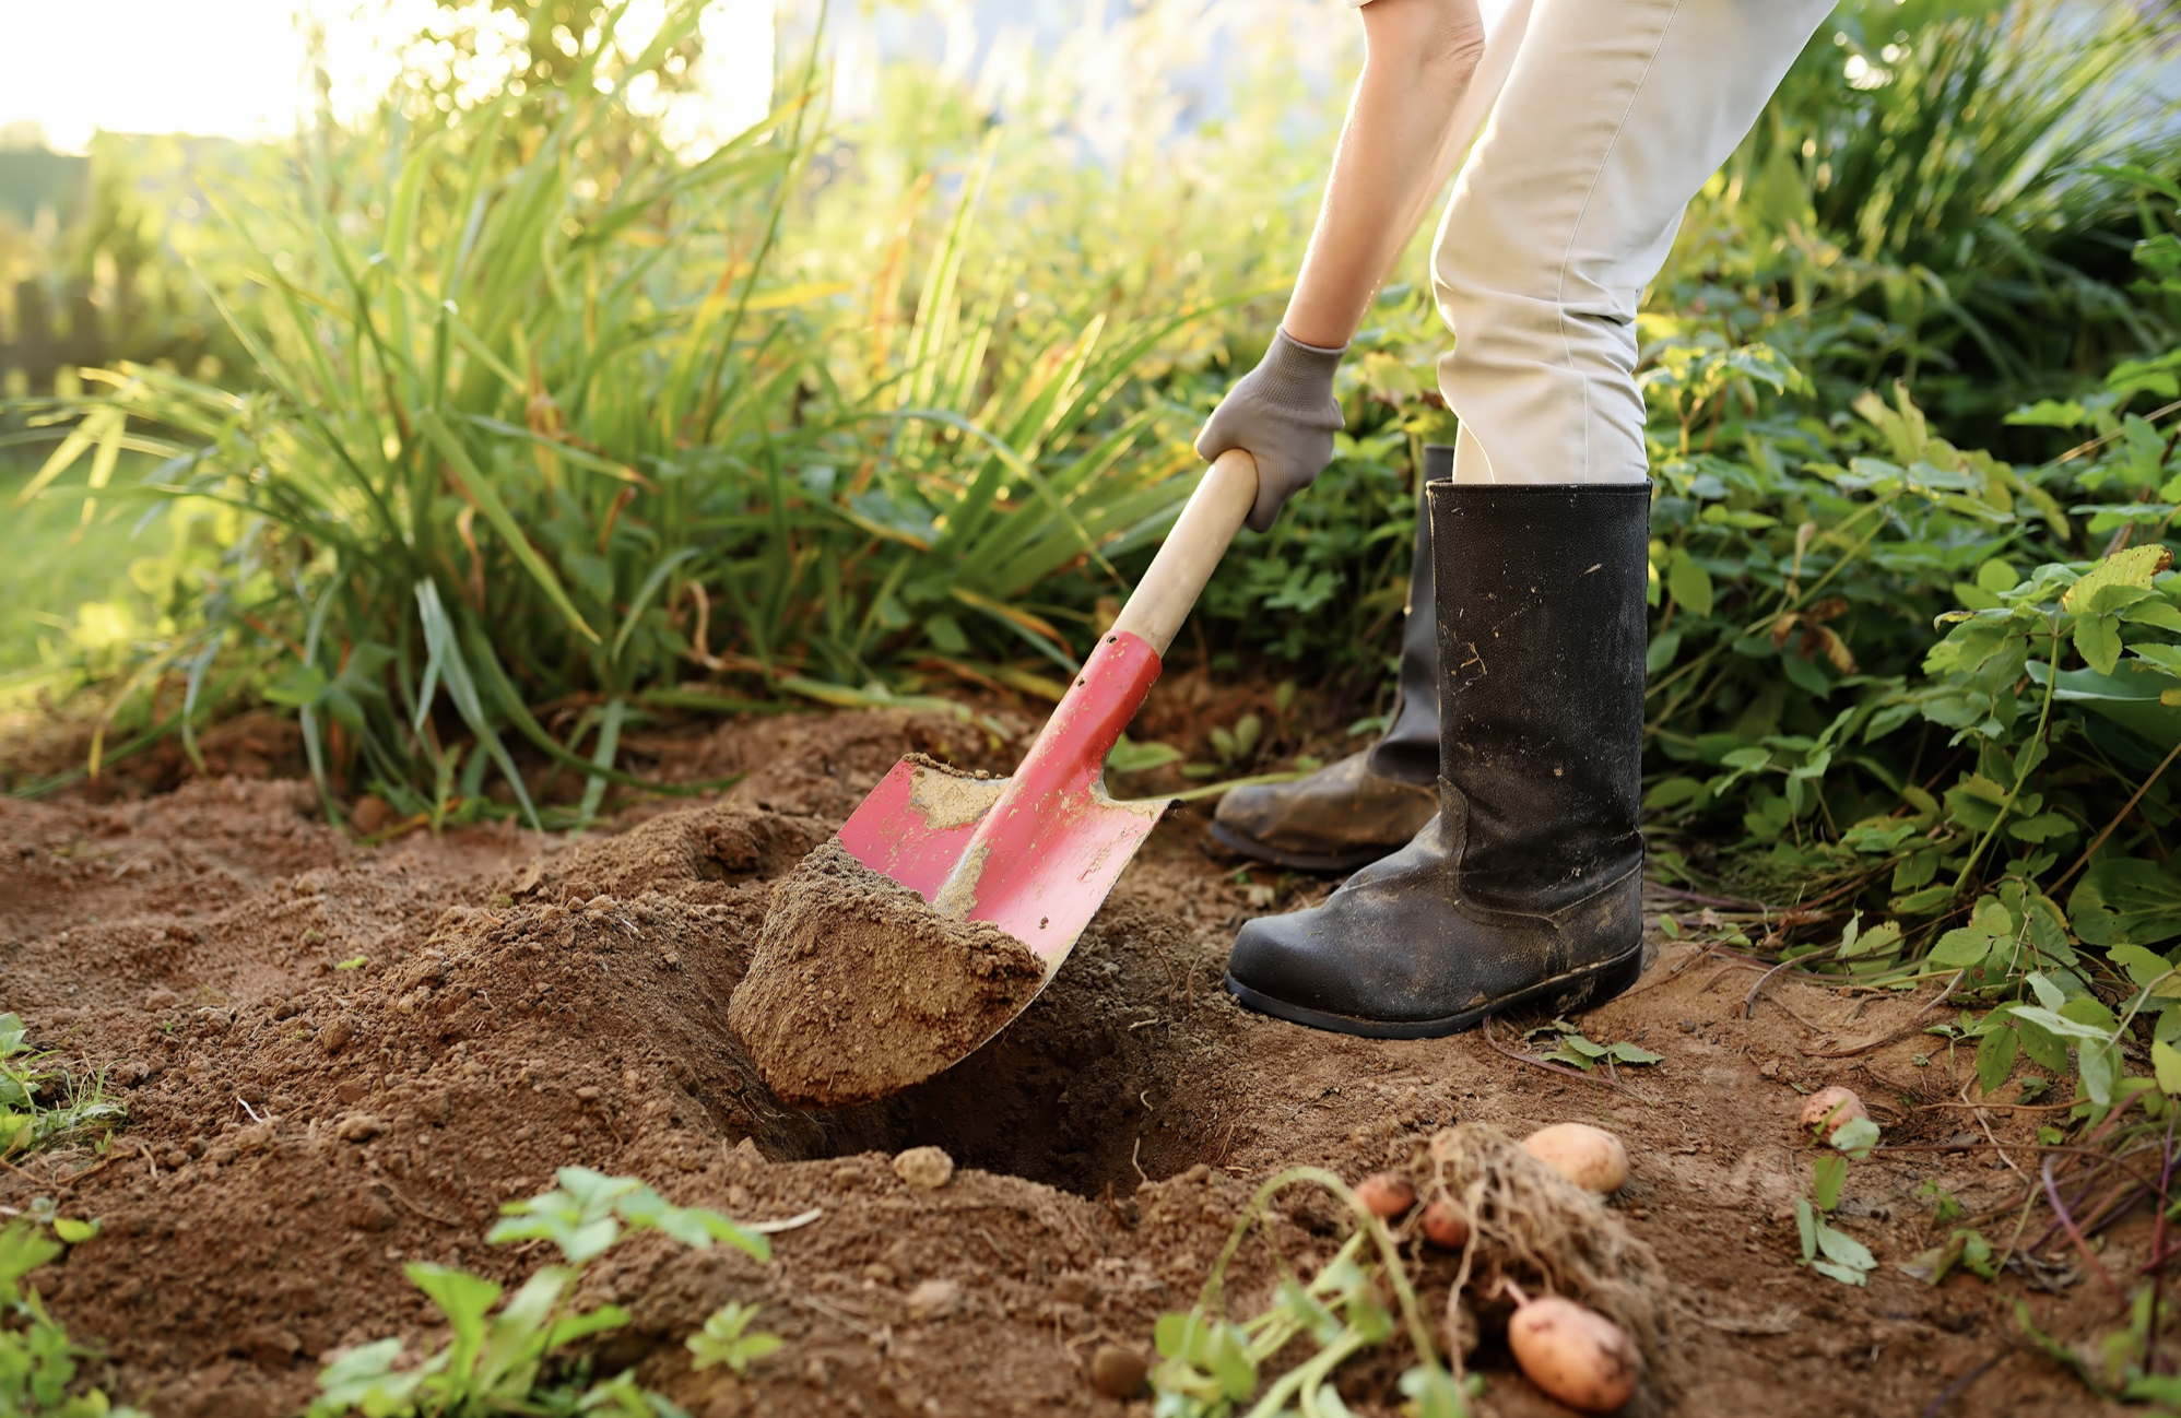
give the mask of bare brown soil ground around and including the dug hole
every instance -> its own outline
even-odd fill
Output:
[[[1479,1032],[1317,1034],[1237,1008],[1219,977],[1241,921],[1330,884],[1208,857],[1202,814],[1169,816],[990,1045],[881,1102],[783,1104],[728,1028],[776,884],[903,750],[1005,770],[1016,729],[735,722],[654,746],[683,779],[748,772],[733,792],[648,805],[578,842],[493,829],[358,849],[308,788],[246,777],[137,801],[0,801],[0,1008],[72,1067],[109,1067],[129,1106],[103,1158],[48,1152],[0,1171],[0,1206],[44,1195],[105,1224],[33,1276],[103,1350],[87,1377],[159,1418],[299,1411],[332,1350],[441,1337],[403,1263],[502,1281],[541,1263],[484,1230],[580,1163],[742,1219],[820,1213],[779,1233],[766,1265],[639,1237],[587,1281],[632,1315],[598,1363],[635,1366],[702,1418],[1143,1416],[1145,1398],[1090,1385],[1093,1355],[1149,1350],[1158,1313],[1189,1305],[1274,1169],[1359,1178],[1411,1163],[1455,1121],[1516,1137],[1590,1121],[1627,1141],[1631,1178],[1610,1206],[1671,1285],[1688,1385],[1671,1411],[2100,1411],[2015,1326],[2020,1296],[2061,1342],[2111,1329],[2065,1246],[2000,1285],[1900,1270],[1932,1243],[1919,1189],[1937,1182],[1972,1215],[2007,1206],[2044,1117],[1959,1106],[1972,1060],[1919,1032],[1935,986],[1780,980],[1749,1006],[1758,973],[1740,960],[1653,942],[1644,980],[1581,1021],[1666,1056],[1623,1069],[1618,1091]],[[1658,897],[1647,914],[1666,908],[1690,910]],[[1509,1047],[1525,1023],[1494,1038]],[[1917,1147],[1852,1169],[1839,1224],[1882,1261],[1863,1289],[1793,1263],[1810,1178],[1795,1117],[1834,1082],[1889,1143]],[[953,1180],[905,1185],[890,1156],[916,1145],[944,1147]],[[2011,1215],[1987,1224],[2011,1233]],[[1282,1198],[1237,1257],[1237,1313],[1269,1294],[1267,1243],[1309,1270],[1339,1235],[1326,1200]],[[2148,1241],[2144,1217],[2109,1228],[2107,1270],[2129,1274]],[[1422,1252],[1433,1305],[1455,1265]],[[691,1372],[680,1346],[726,1300],[759,1305],[787,1342],[739,1381]],[[1359,1359],[1341,1394],[1391,1414],[1405,1363]],[[1477,1363],[1483,1414],[1562,1411],[1494,1342]]]

